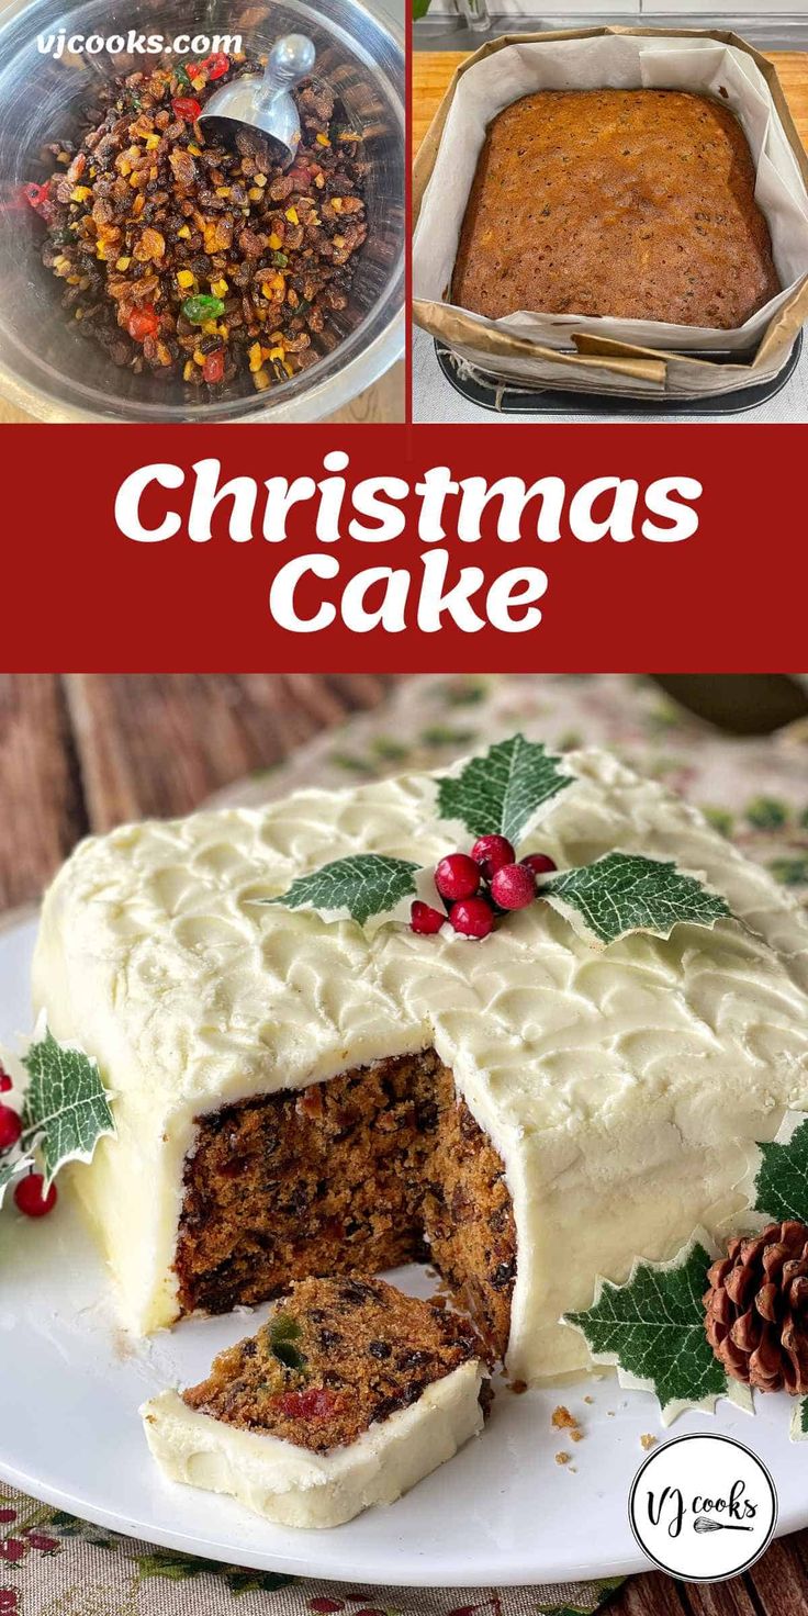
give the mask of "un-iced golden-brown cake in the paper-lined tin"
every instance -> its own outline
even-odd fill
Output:
[[[538,90],[488,126],[451,301],[735,330],[781,291],[735,115],[664,89]]]

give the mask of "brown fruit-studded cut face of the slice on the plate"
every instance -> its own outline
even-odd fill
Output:
[[[257,1335],[183,1393],[186,1408],[328,1453],[410,1408],[478,1354],[469,1324],[373,1278],[301,1280]],[[485,1409],[486,1382],[480,1391]]]

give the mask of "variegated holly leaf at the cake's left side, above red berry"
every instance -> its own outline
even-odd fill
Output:
[[[65,1162],[92,1160],[99,1139],[115,1134],[115,1120],[99,1065],[82,1049],[42,1026],[21,1060],[29,1078],[21,1144],[40,1152],[48,1186]]]

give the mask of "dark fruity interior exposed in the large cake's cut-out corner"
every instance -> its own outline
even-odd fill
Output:
[[[175,1259],[184,1312],[428,1259],[504,1357],[516,1277],[504,1165],[435,1050],[225,1105],[197,1126]]]

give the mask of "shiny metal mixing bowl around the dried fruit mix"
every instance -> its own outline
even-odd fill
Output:
[[[341,341],[309,370],[267,393],[250,377],[223,398],[197,402],[181,380],[118,370],[79,336],[60,307],[58,281],[40,262],[42,225],[21,199],[42,181],[45,142],[74,137],[99,79],[149,69],[157,57],[73,55],[55,60],[37,37],[100,34],[241,34],[247,52],[278,34],[305,32],[317,73],[362,128],[368,239],[357,257],[351,305],[336,318]],[[184,60],[189,60],[187,57]],[[69,10],[34,0],[0,29],[0,393],[40,420],[260,422],[320,420],[375,381],[404,346],[404,53],[357,0],[86,0]]]

